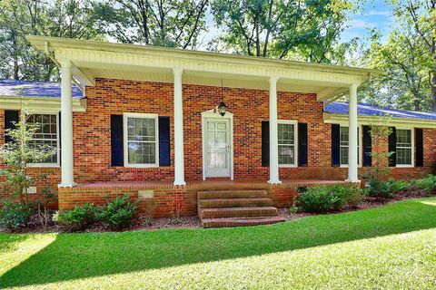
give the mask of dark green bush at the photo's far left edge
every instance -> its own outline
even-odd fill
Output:
[[[32,208],[20,202],[5,200],[0,208],[0,224],[9,230],[25,227],[29,223],[32,212]]]

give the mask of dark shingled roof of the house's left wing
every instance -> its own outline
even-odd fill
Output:
[[[0,80],[0,96],[60,98],[61,83]],[[84,98],[84,92],[74,84],[73,97]]]

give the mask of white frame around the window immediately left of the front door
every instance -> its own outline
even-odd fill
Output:
[[[128,118],[143,118],[143,119],[154,119],[155,128],[156,128],[156,161],[155,163],[129,163],[129,149],[128,149],[128,140],[127,140],[127,119]],[[123,114],[123,143],[124,143],[124,167],[129,168],[156,168],[159,167],[159,116],[157,114],[149,114],[149,113],[137,113],[137,112],[124,112]]]

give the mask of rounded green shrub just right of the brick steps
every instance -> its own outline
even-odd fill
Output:
[[[341,193],[329,186],[314,186],[298,196],[302,210],[308,212],[322,212],[339,209],[344,205]]]

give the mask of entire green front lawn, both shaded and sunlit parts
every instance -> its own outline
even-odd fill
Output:
[[[0,235],[0,288],[436,288],[436,198],[266,227]]]

